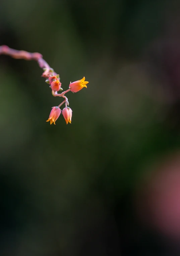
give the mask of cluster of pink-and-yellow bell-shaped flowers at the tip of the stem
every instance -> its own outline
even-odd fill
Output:
[[[64,101],[59,105],[59,106],[54,106],[52,107],[51,113],[49,115],[49,118],[46,122],[50,121],[50,124],[56,122],[58,117],[60,116],[61,112],[62,115],[66,121],[66,124],[70,123],[71,124],[71,118],[72,118],[72,110],[67,106],[69,105],[68,99],[65,95],[65,93],[71,91],[71,92],[78,92],[80,91],[83,87],[87,88],[86,84],[88,83],[85,81],[85,77],[83,77],[80,80],[77,80],[73,83],[70,82],[69,84],[69,89],[62,92],[61,94],[58,94],[58,91],[62,91],[63,89],[61,88],[61,82],[60,82],[60,77],[58,74],[54,72],[53,69],[49,69],[48,72],[46,69],[44,69],[44,73],[42,75],[43,77],[48,78],[45,82],[49,84],[50,88],[52,89],[52,94],[53,96],[59,96],[63,97]],[[60,106],[65,103],[65,108],[61,111]]]

